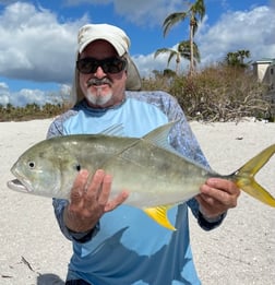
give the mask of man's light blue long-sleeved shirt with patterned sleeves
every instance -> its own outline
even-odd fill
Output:
[[[141,138],[172,120],[179,122],[170,131],[170,144],[184,156],[207,166],[183,111],[164,92],[127,92],[121,105],[108,109],[93,109],[81,102],[52,122],[48,138],[99,133],[115,124],[122,126],[120,135]],[[201,284],[189,240],[188,206],[195,217],[200,216],[194,199],[169,210],[168,217],[176,231],[159,226],[139,209],[121,205],[99,219],[92,238],[85,242],[79,242],[63,223],[67,204],[65,200],[53,199],[59,226],[73,242],[69,278],[83,278],[94,285]],[[212,229],[219,223],[199,224]]]

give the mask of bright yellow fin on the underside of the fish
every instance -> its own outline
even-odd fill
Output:
[[[170,205],[160,205],[156,207],[145,207],[143,211],[160,226],[176,230],[167,217],[167,211],[170,207]]]

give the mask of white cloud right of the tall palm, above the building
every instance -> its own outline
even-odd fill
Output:
[[[275,58],[275,10],[259,7],[244,12],[228,12],[213,26],[203,23],[195,40],[202,63],[222,60],[227,52],[250,50],[253,60]]]

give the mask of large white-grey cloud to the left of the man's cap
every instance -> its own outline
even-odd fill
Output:
[[[0,15],[0,74],[65,83],[71,80],[76,33],[86,17],[58,22],[48,10],[16,2]]]

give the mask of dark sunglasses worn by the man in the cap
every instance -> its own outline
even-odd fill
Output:
[[[106,58],[98,60],[95,58],[83,58],[76,61],[76,68],[81,73],[95,73],[100,67],[105,73],[119,73],[124,70],[127,60],[122,58]]]

